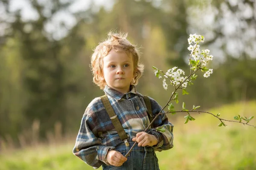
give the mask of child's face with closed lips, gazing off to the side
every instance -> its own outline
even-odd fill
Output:
[[[109,87],[121,93],[129,92],[134,76],[132,57],[125,52],[109,51],[103,58],[103,74]]]

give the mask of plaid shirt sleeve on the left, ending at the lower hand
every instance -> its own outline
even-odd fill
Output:
[[[87,112],[90,112],[88,108],[81,120],[73,154],[94,169],[97,169],[103,163],[108,164],[106,158],[108,150],[114,150],[115,147],[107,147],[100,142],[98,134],[96,132],[93,133],[93,131],[96,131],[94,130],[95,125]]]

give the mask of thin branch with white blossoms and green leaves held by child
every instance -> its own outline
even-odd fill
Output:
[[[157,119],[157,117],[161,114],[166,114],[166,113],[178,113],[178,112],[186,112],[188,113],[188,115],[186,115],[184,118],[186,119],[186,121],[184,122],[185,124],[190,121],[195,120],[195,118],[193,118],[190,115],[190,112],[198,112],[198,113],[209,113],[206,111],[195,111],[196,109],[200,108],[200,106],[195,106],[193,105],[193,108],[191,111],[187,110],[186,104],[185,102],[183,102],[182,105],[182,111],[175,111],[175,107],[174,105],[172,105],[172,103],[170,103],[171,101],[175,101],[176,103],[179,102],[178,100],[178,93],[177,90],[181,89],[182,90],[182,95],[185,94],[189,94],[186,91],[186,87],[187,85],[193,85],[192,81],[195,80],[198,75],[196,75],[196,72],[198,70],[201,70],[202,72],[205,71],[204,73],[204,77],[209,77],[210,74],[213,73],[213,69],[207,68],[206,64],[212,60],[213,56],[209,55],[209,50],[208,49],[204,49],[200,50],[200,42],[204,42],[204,37],[201,35],[197,35],[197,34],[190,34],[189,38],[188,38],[188,42],[189,42],[189,47],[188,50],[191,51],[189,54],[189,67],[190,67],[190,74],[187,77],[183,77],[182,75],[185,75],[185,72],[182,69],[177,69],[177,67],[173,67],[171,69],[169,69],[166,73],[164,73],[162,70],[159,70],[158,68],[154,67],[155,69],[154,74],[156,77],[158,77],[159,79],[162,78],[162,75],[164,77],[163,79],[163,88],[165,90],[167,90],[169,85],[174,86],[175,91],[172,92],[171,97],[169,98],[168,102],[166,103],[166,105],[161,109],[161,111],[154,117],[154,119],[150,122],[150,124],[148,125],[148,127],[144,130],[147,131],[150,127],[151,124]],[[195,43],[193,45],[193,43]],[[169,83],[166,82],[166,78],[169,79]],[[163,110],[168,106],[168,111],[167,112],[163,112]],[[209,113],[212,116],[215,116],[216,118],[218,118],[221,123],[218,124],[218,126],[226,126],[224,124],[224,121],[226,122],[238,122],[238,123],[242,123],[244,125],[249,125],[249,126],[253,126],[256,128],[256,126],[254,125],[250,125],[248,124],[250,122],[251,119],[253,119],[254,116],[250,116],[249,118],[247,118],[246,116],[234,116],[234,119],[237,121],[233,121],[233,120],[226,120],[226,119],[222,119],[220,118],[220,113],[218,113],[217,115],[214,115],[213,113]],[[246,121],[246,123],[242,122],[242,121]],[[156,128],[157,131],[161,131],[163,132],[165,129],[163,129],[162,127],[157,127]],[[128,153],[126,153],[125,157],[128,156],[128,154],[131,152],[132,148],[135,146],[137,142],[134,142],[134,145],[130,148],[130,150],[128,151]]]

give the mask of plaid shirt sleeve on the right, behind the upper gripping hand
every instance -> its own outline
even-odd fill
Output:
[[[156,116],[161,110],[162,107],[152,98],[150,98],[152,113]],[[162,111],[161,113],[164,113]],[[164,132],[156,130],[156,127],[164,129]],[[158,139],[158,144],[154,145],[153,148],[157,151],[168,150],[173,147],[173,125],[168,121],[166,114],[160,114],[157,119],[154,121],[154,128],[148,130],[149,134],[156,136]]]

